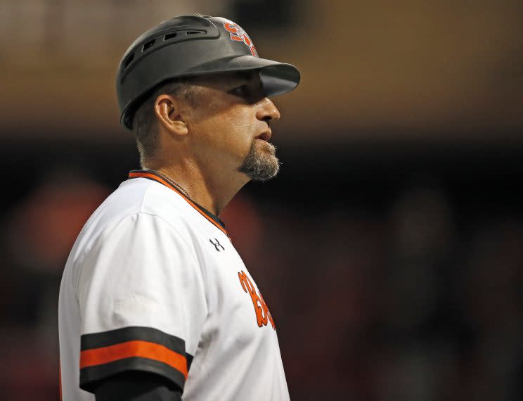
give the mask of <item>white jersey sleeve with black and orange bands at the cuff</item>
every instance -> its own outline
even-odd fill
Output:
[[[183,389],[207,316],[195,255],[164,219],[138,213],[104,232],[77,283],[80,388],[124,371]]]

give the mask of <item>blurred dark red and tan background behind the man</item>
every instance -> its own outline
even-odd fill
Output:
[[[281,174],[222,213],[278,329],[293,400],[523,399],[518,1],[6,1],[0,12],[0,398],[58,399],[58,287],[138,167],[114,74],[200,12],[297,65]]]

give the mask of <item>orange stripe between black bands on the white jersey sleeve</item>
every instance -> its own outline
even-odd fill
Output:
[[[185,356],[169,350],[164,345],[138,340],[82,351],[80,352],[80,369],[131,357],[142,357],[163,362],[180,371],[183,377],[187,378],[187,359]]]

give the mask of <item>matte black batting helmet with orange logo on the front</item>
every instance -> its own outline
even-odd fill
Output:
[[[120,61],[120,122],[131,129],[136,108],[167,79],[250,70],[259,70],[266,96],[285,94],[299,83],[294,65],[259,58],[249,35],[231,20],[207,15],[171,18],[138,37]]]

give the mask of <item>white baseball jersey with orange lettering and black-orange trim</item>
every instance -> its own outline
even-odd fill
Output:
[[[289,400],[276,328],[217,217],[152,172],[93,213],[60,286],[60,390],[148,371],[186,401]]]

